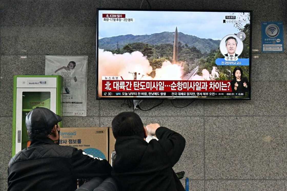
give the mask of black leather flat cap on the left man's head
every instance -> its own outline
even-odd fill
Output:
[[[51,131],[53,126],[62,121],[61,116],[47,108],[36,107],[26,116],[26,128],[29,133]]]

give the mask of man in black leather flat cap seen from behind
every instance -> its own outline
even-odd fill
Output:
[[[28,113],[26,127],[31,145],[10,160],[8,191],[73,191],[79,178],[110,176],[112,167],[108,161],[58,145],[61,120],[47,108],[35,108]]]

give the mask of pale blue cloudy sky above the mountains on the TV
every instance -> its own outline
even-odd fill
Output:
[[[121,13],[134,22],[104,22],[102,14]],[[233,24],[223,24],[230,12],[186,12],[186,11],[99,11],[99,39],[126,34],[145,35],[160,32],[178,32],[221,40],[228,34],[237,33]],[[241,13],[234,14],[237,18]],[[242,17],[241,17],[242,18]],[[244,24],[245,25],[245,24]],[[244,26],[243,25],[243,26]]]

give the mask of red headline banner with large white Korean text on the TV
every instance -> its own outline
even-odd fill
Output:
[[[230,81],[102,80],[102,91],[232,92]]]

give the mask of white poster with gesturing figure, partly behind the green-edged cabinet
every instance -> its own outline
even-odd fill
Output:
[[[63,77],[63,116],[87,115],[88,56],[46,56],[45,75]]]

